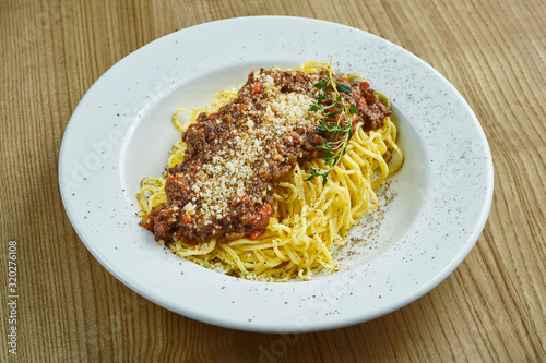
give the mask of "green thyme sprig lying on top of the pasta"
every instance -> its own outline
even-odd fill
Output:
[[[352,88],[348,84],[337,82],[333,78],[332,60],[330,60],[328,71],[328,78],[322,78],[314,84],[314,87],[320,88],[321,90],[318,93],[317,97],[312,100],[311,106],[309,107],[311,111],[324,112],[324,117],[320,120],[319,125],[317,125],[317,130],[325,133],[327,137],[322,140],[322,143],[319,146],[317,146],[317,149],[325,152],[322,160],[324,160],[324,165],[329,166],[329,168],[309,168],[310,176],[306,179],[306,181],[313,180],[316,177],[322,177],[322,185],[327,184],[328,176],[347,152],[348,142],[353,137],[352,114],[358,113],[356,106],[353,104],[347,105],[342,97],[342,93],[349,94],[352,93]],[[323,105],[328,98],[327,94],[329,92],[333,92],[334,100],[329,105]],[[343,126],[340,124],[341,122],[327,122],[327,118],[335,117],[341,112],[345,114],[345,122]],[[339,120],[341,120],[341,118],[339,118]]]

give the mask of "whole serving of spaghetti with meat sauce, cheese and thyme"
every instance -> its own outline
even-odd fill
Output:
[[[141,226],[175,254],[241,278],[335,271],[332,245],[402,166],[391,113],[387,96],[331,62],[251,72],[210,106],[175,112],[181,140],[164,178],[141,182]]]

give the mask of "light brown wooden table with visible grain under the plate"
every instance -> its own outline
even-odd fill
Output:
[[[63,131],[105,71],[171,32],[264,14],[332,21],[402,46],[462,93],[489,141],[495,196],[476,246],[430,293],[376,320],[283,336],[179,316],[102,267],[63,210]],[[544,19],[543,0],[2,1],[0,360],[545,362]],[[7,344],[10,241],[16,356]]]

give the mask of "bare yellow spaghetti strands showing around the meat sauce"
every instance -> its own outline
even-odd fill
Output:
[[[329,64],[309,61],[298,70],[316,73],[328,70]],[[347,80],[361,80],[357,74]],[[387,96],[376,93],[390,108]],[[236,92],[221,92],[210,106],[174,113],[174,124],[180,132],[197,121],[199,113],[216,112],[237,98]],[[189,120],[182,122],[181,114]],[[334,244],[343,245],[352,226],[367,211],[378,208],[373,192],[402,166],[403,153],[396,145],[396,126],[385,117],[383,126],[364,131],[358,124],[348,142],[345,155],[323,184],[320,178],[310,181],[310,168],[328,169],[324,160],[314,158],[300,165],[284,177],[274,191],[273,214],[265,231],[257,239],[230,242],[211,240],[199,245],[175,240],[166,245],[176,255],[202,266],[241,277],[264,281],[286,281],[295,277],[309,280],[318,270],[336,271],[339,264],[332,256]],[[168,166],[180,164],[186,145],[174,146]],[[141,217],[167,202],[164,178],[146,178],[141,182],[138,201]]]

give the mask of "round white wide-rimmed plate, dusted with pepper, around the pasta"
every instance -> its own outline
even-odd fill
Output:
[[[392,202],[352,231],[367,242],[340,251],[340,273],[286,283],[227,277],[168,253],[138,226],[139,182],[161,174],[179,138],[174,110],[207,105],[251,70],[330,57],[335,69],[363,74],[391,97],[406,158],[382,192]],[[75,109],[59,178],[74,229],[120,281],[176,313],[258,331],[342,327],[411,303],[471,251],[492,197],[484,132],[438,72],[368,33],[276,16],[193,26],[119,61]]]

